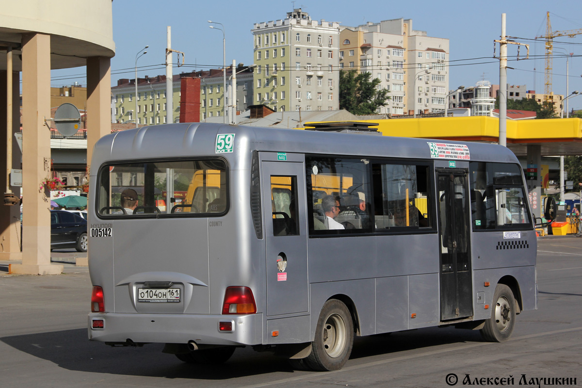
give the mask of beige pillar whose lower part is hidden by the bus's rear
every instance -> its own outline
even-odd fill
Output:
[[[87,174],[93,147],[111,133],[111,59],[87,58]]]

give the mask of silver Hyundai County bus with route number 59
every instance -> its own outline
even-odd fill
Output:
[[[90,340],[342,368],[354,336],[537,308],[523,170],[494,144],[211,123],[104,136],[90,171]],[[356,125],[356,124],[352,124]]]

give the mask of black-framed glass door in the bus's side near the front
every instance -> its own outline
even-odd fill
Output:
[[[438,171],[441,320],[473,315],[467,171]]]

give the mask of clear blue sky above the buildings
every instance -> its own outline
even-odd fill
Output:
[[[357,6],[356,6],[357,5]],[[172,27],[172,48],[184,52],[182,67],[174,74],[208,70],[222,66],[222,32],[210,29],[207,21],[222,23],[225,30],[226,64],[253,63],[254,23],[285,19],[293,8],[308,12],[312,20],[339,22],[357,26],[365,22],[404,19],[413,20],[413,29],[427,31],[428,36],[449,39],[449,89],[471,87],[477,81],[499,83],[499,45],[501,15],[506,13],[506,31],[514,41],[530,44],[527,50],[509,45],[508,84],[526,85],[527,90],[544,92],[545,40],[535,37],[546,34],[546,12],[550,13],[552,31],[582,32],[580,2],[553,1],[380,1],[380,0],[297,0],[253,2],[214,2],[192,0],[115,0],[113,7],[113,40],[115,57],[111,60],[111,83],[120,78],[134,78],[136,55],[148,45],[147,54],[137,61],[138,76],[165,74],[166,27]],[[214,24],[217,27],[220,27]],[[569,92],[582,95],[582,34],[556,37],[553,40],[552,90],[566,95],[566,56],[569,58]],[[180,61],[182,59],[180,58]],[[176,62],[176,55],[173,56]],[[55,70],[52,86],[86,84],[83,67]],[[77,75],[75,75],[77,74]],[[570,109],[582,109],[582,97],[569,99]]]

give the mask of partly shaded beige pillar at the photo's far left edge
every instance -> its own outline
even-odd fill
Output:
[[[20,72],[12,72],[12,168],[20,169],[22,154],[16,144],[14,133],[20,132]],[[6,72],[0,72],[0,149],[6,149]],[[6,170],[6,155],[0,157],[0,171]],[[6,177],[0,179],[2,190],[6,190]],[[20,197],[20,187],[10,186],[12,193]],[[20,205],[5,206],[0,204],[0,260],[22,259],[20,252]]]

